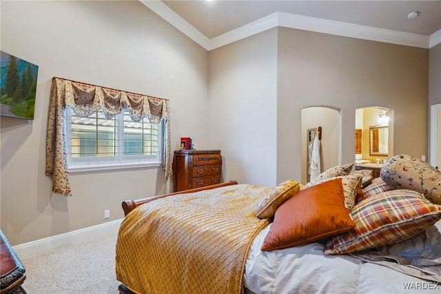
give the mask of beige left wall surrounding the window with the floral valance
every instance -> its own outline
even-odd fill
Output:
[[[1,117],[1,229],[12,245],[123,217],[121,202],[164,193],[162,168],[44,175],[50,81],[64,77],[170,99],[172,148],[207,148],[208,53],[138,1],[1,1],[1,50],[39,66],[33,121]],[[104,210],[110,209],[110,219]]]

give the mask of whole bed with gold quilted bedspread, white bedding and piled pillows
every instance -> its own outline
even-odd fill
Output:
[[[411,170],[409,158],[394,159],[377,179],[349,164],[305,186],[232,181],[127,200],[116,244],[119,291],[440,293],[441,177],[431,189],[404,187],[397,170]]]

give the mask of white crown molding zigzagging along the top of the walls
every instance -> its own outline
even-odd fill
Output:
[[[360,26],[353,23],[318,19],[316,17],[305,17],[284,12],[275,12],[267,17],[248,23],[245,26],[226,32],[223,35],[208,39],[162,1],[139,1],[207,51],[220,48],[229,43],[245,39],[246,37],[278,26],[425,49],[432,48],[441,43],[441,30],[438,30],[438,32],[433,33],[431,36],[426,36],[396,30]]]

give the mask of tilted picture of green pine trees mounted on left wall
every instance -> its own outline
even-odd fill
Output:
[[[0,51],[0,115],[34,119],[39,67]]]

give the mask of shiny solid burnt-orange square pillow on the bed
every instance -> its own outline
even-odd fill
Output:
[[[282,204],[262,251],[299,246],[345,233],[356,226],[345,206],[342,179],[300,190]]]

